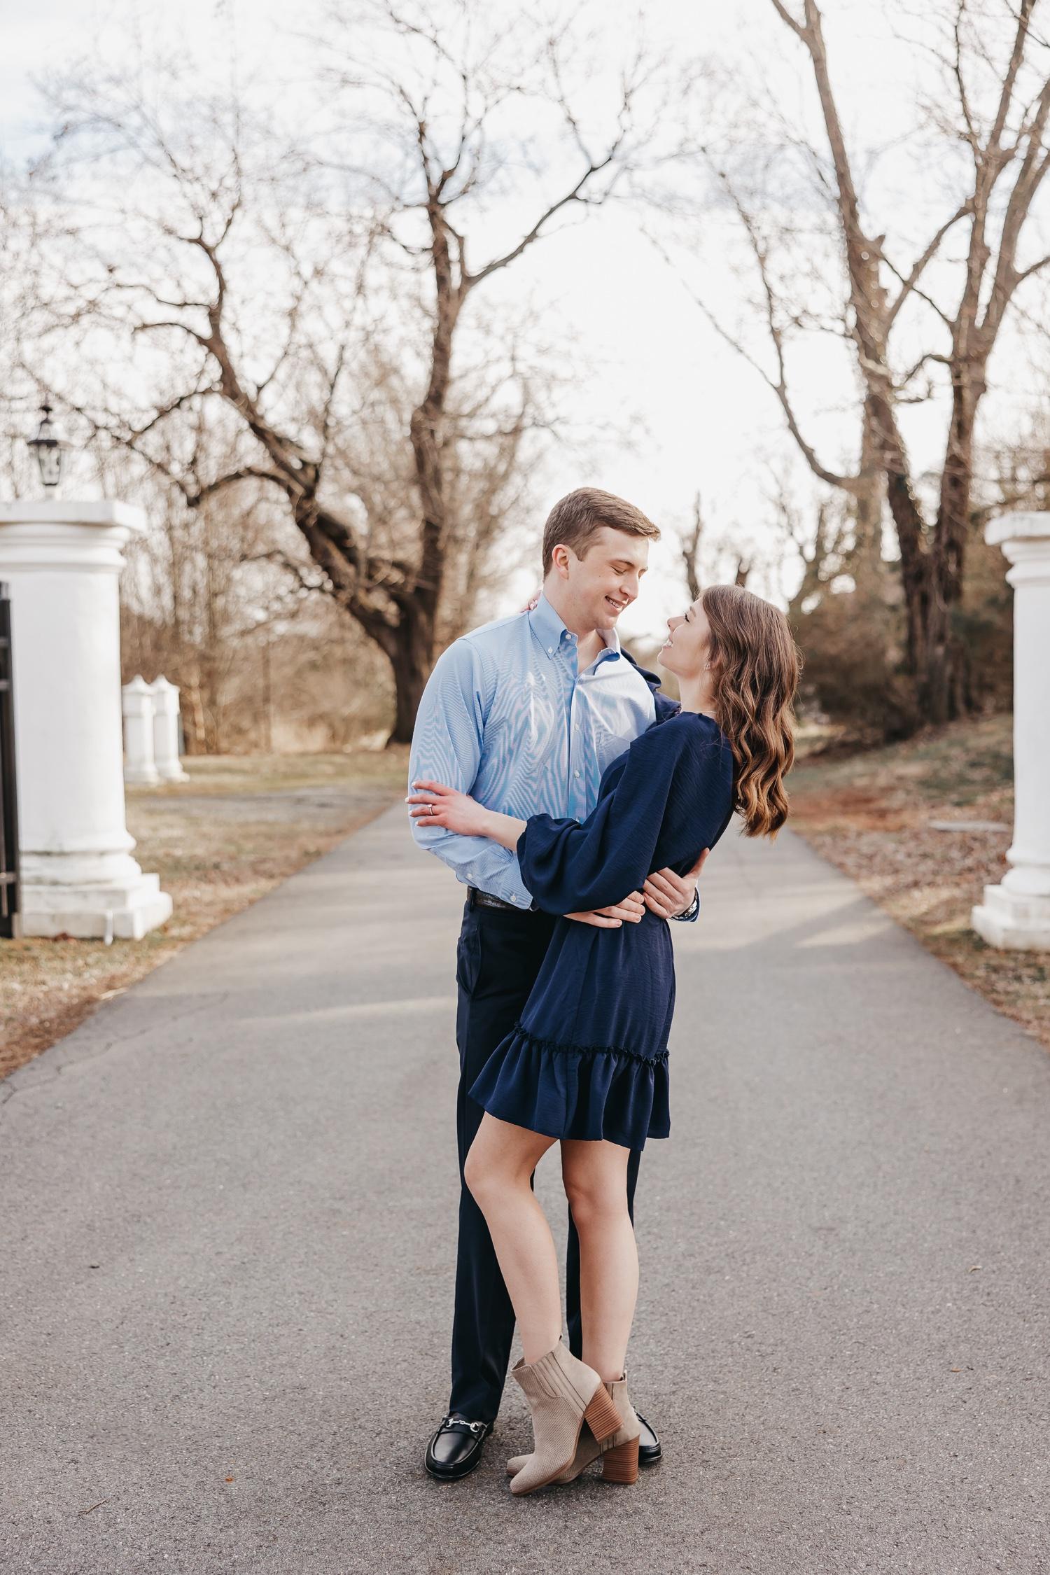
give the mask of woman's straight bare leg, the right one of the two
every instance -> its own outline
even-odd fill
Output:
[[[562,1142],[562,1180],[579,1236],[582,1359],[604,1383],[622,1377],[638,1299],[638,1247],[619,1143]]]

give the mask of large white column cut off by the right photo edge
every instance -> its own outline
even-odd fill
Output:
[[[1014,586],[1014,841],[973,928],[992,947],[1050,948],[1050,513],[992,520]]]

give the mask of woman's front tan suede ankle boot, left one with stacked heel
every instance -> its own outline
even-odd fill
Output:
[[[532,1411],[534,1447],[510,1492],[535,1493],[576,1458],[584,1419],[601,1441],[617,1432],[620,1413],[593,1367],[578,1361],[564,1340],[535,1362],[519,1361],[512,1373]],[[638,1444],[634,1447],[638,1451]]]

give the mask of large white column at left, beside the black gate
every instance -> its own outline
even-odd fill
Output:
[[[116,580],[143,528],[124,502],[0,504],[24,936],[139,940],[172,912],[124,825]]]

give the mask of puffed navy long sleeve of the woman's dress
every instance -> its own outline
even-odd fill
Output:
[[[653,723],[586,821],[534,814],[518,838],[521,877],[548,914],[609,907],[653,869],[693,863],[732,811],[732,753],[707,718]]]

